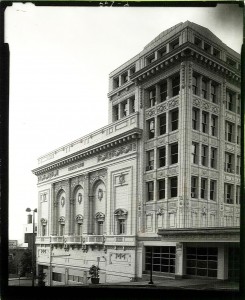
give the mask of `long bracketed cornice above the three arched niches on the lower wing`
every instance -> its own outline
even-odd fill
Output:
[[[112,137],[105,142],[100,142],[96,145],[88,147],[87,149],[83,149],[81,151],[65,156],[56,161],[53,161],[49,164],[38,167],[32,170],[32,173],[38,176],[46,172],[50,172],[52,170],[57,170],[58,168],[69,165],[70,163],[80,161],[81,159],[85,159],[93,155],[98,155],[99,153],[104,152],[106,150],[110,150],[118,145],[121,146],[130,141],[137,140],[141,137],[141,134],[142,134],[141,129],[133,128],[127,132],[119,134],[116,137]]]

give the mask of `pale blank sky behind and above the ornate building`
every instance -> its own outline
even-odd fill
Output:
[[[160,7],[35,7],[5,11],[10,48],[9,239],[23,242],[37,207],[39,156],[108,124],[109,73],[179,22],[207,27],[240,53],[243,10]]]

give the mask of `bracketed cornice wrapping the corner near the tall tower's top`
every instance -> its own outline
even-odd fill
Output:
[[[135,72],[130,76],[130,80],[136,84],[143,83],[150,77],[160,73],[161,70],[168,69],[173,66],[176,62],[182,62],[190,58],[205,64],[206,68],[210,68],[212,71],[224,75],[227,79],[235,80],[238,83],[241,81],[239,70],[231,67],[225,61],[216,58],[190,42],[180,45],[177,49],[167,53],[162,58]]]

